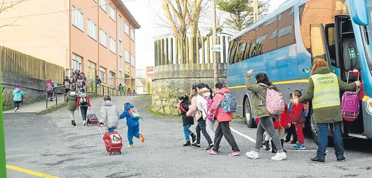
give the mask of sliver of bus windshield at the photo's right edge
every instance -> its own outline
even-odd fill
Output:
[[[368,66],[372,73],[372,0],[367,0],[367,8],[370,23],[364,28],[365,38],[363,41],[366,49],[366,57],[368,58]]]

